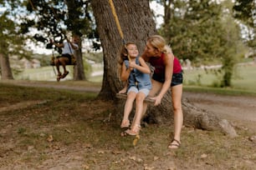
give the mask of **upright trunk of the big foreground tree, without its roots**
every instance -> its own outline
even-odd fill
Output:
[[[114,0],[113,2],[125,41],[135,42],[142,52],[146,37],[156,33],[156,24],[152,18],[149,2],[147,0]],[[116,27],[109,1],[94,0],[92,7],[104,54],[104,75],[100,97],[113,99],[121,88],[117,61],[122,38]]]

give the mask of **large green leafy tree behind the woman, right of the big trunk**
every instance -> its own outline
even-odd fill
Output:
[[[160,32],[172,44],[174,54],[196,66],[222,62],[218,86],[230,87],[234,65],[243,52],[240,30],[230,15],[230,1],[160,2],[168,8],[165,12],[171,13],[164,16],[164,21],[169,21],[163,23]]]

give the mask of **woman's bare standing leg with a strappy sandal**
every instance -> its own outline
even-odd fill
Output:
[[[177,145],[181,141],[181,132],[183,124],[183,112],[182,112],[182,84],[172,87],[172,106],[174,115],[174,141],[168,148],[178,148]],[[179,142],[177,142],[177,141]]]

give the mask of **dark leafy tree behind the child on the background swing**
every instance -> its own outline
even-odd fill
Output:
[[[95,35],[92,29],[90,15],[90,1],[44,1],[28,0],[27,10],[33,18],[24,18],[23,32],[28,28],[37,28],[34,38],[38,42],[49,42],[53,38],[56,42],[63,42],[68,32],[79,37],[86,35],[90,38]],[[36,18],[36,19],[35,19]],[[58,49],[61,52],[61,49]],[[74,67],[74,80],[84,80],[84,64],[82,59],[81,44],[76,52],[77,65]]]

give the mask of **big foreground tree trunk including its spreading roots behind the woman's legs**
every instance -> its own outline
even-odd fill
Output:
[[[125,41],[135,42],[139,52],[142,52],[145,47],[146,38],[152,34],[156,34],[156,24],[152,18],[153,15],[149,1],[113,0],[113,2],[120,20],[120,27],[124,33]],[[115,18],[111,13],[108,1],[94,0],[92,1],[92,7],[104,54],[104,77],[99,97],[104,99],[116,99],[115,94],[122,87],[117,72],[118,53],[122,45],[122,39],[116,27]],[[115,101],[116,120],[120,122],[125,100],[116,99]],[[192,106],[184,99],[182,101],[182,109],[186,125],[207,130],[221,128],[218,123],[218,117]],[[172,122],[172,117],[171,92],[169,91],[162,99],[161,106],[148,107],[146,120],[148,122],[162,124]]]

